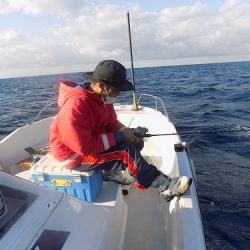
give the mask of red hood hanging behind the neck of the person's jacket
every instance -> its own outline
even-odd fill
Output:
[[[71,81],[61,81],[58,97],[59,108],[61,108],[71,96],[88,96],[91,99],[94,99],[97,103],[102,104],[101,98],[98,94],[81,87],[76,88],[77,85],[78,84]]]

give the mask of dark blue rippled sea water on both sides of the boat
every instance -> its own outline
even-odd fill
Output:
[[[0,79],[0,139],[54,102],[62,79],[82,74]],[[193,133],[181,137],[195,164],[207,249],[250,249],[250,62],[139,68],[135,79],[138,95],[162,98],[177,131]],[[55,112],[52,105],[40,118]]]

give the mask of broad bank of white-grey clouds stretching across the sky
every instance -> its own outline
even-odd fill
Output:
[[[0,4],[6,2],[11,1]],[[197,62],[201,57],[235,60],[238,56],[250,60],[250,3],[245,1],[227,0],[217,10],[201,2],[145,11],[139,5],[129,8],[115,4],[84,5],[77,0],[20,1],[15,8],[38,15],[48,13],[49,6],[52,11],[58,2],[61,6],[57,6],[58,13],[78,14],[61,18],[60,25],[57,22],[57,26],[51,27],[50,38],[29,37],[15,30],[0,31],[0,60],[5,62],[2,72],[10,67],[23,69],[25,73],[34,68],[45,73],[51,73],[53,68],[55,72],[60,68],[64,72],[82,71],[83,65],[87,70],[87,65],[105,58],[128,62],[127,9],[136,66],[143,66],[147,61],[153,65],[157,61],[174,62],[183,58]],[[70,2],[71,9],[66,8],[66,2]],[[88,7],[88,11],[75,10],[77,3],[79,8]]]

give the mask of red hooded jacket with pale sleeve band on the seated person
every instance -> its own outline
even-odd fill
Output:
[[[84,157],[96,155],[117,144],[115,133],[125,126],[117,120],[112,104],[76,83],[62,81],[60,111],[50,127],[50,146],[56,159],[73,168]]]

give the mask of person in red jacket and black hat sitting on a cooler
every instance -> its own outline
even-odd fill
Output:
[[[133,176],[137,188],[156,188],[167,201],[184,194],[192,179],[170,178],[148,164],[140,153],[142,138],[117,119],[115,98],[121,91],[133,90],[124,66],[104,60],[85,76],[91,83],[62,81],[60,84],[60,110],[50,128],[54,157],[66,161],[67,168],[103,170],[106,181],[129,185],[133,181],[129,176]]]

